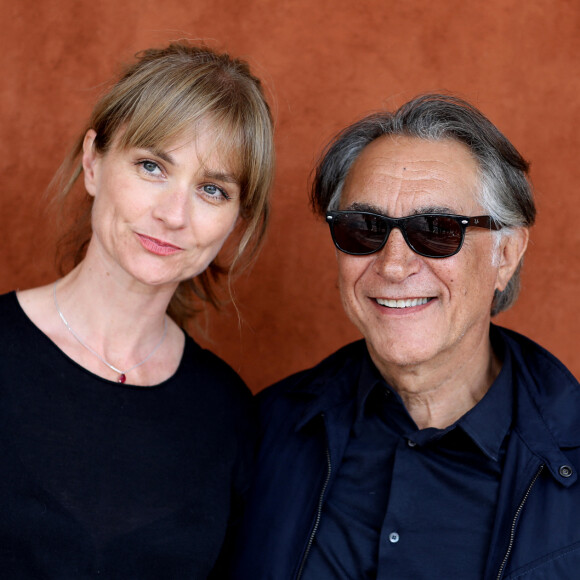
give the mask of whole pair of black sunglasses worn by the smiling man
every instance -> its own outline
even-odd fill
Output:
[[[326,221],[334,245],[345,254],[367,256],[383,248],[393,228],[399,228],[413,252],[426,258],[457,254],[468,227],[499,230],[488,215],[466,217],[438,213],[390,218],[367,211],[329,211]]]

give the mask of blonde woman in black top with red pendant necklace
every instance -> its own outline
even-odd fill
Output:
[[[272,171],[260,83],[225,54],[145,51],[96,105],[61,172],[90,205],[76,266],[0,298],[2,577],[219,577],[251,398],[181,324],[226,238],[233,262],[259,243]]]

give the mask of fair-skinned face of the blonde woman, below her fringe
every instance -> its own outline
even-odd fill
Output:
[[[174,286],[216,257],[240,210],[234,163],[220,156],[212,132],[155,149],[94,150],[87,132],[85,187],[94,197],[87,260],[107,273],[149,286]]]

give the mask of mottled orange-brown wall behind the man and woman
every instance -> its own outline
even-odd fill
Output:
[[[0,0],[0,291],[55,278],[41,195],[101,87],[139,49],[178,38],[250,61],[271,96],[271,230],[236,285],[243,321],[209,317],[211,348],[257,391],[358,337],[336,289],[309,174],[340,128],[417,93],[480,107],[532,162],[539,219],[517,305],[498,322],[580,376],[580,3],[577,0]]]

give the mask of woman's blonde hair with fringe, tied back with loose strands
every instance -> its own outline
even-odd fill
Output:
[[[115,146],[155,148],[207,123],[215,129],[220,153],[237,161],[241,185],[239,242],[233,260],[215,260],[194,279],[182,282],[169,305],[180,324],[199,308],[194,296],[218,306],[215,282],[231,273],[242,254],[255,255],[269,217],[269,190],[274,173],[273,121],[259,79],[242,60],[206,46],[179,42],[137,54],[119,81],[98,101],[88,126],[53,180],[61,207],[82,173],[83,139],[96,132],[98,153]],[[61,272],[77,265],[90,241],[92,198],[85,192],[84,210],[59,243]]]

